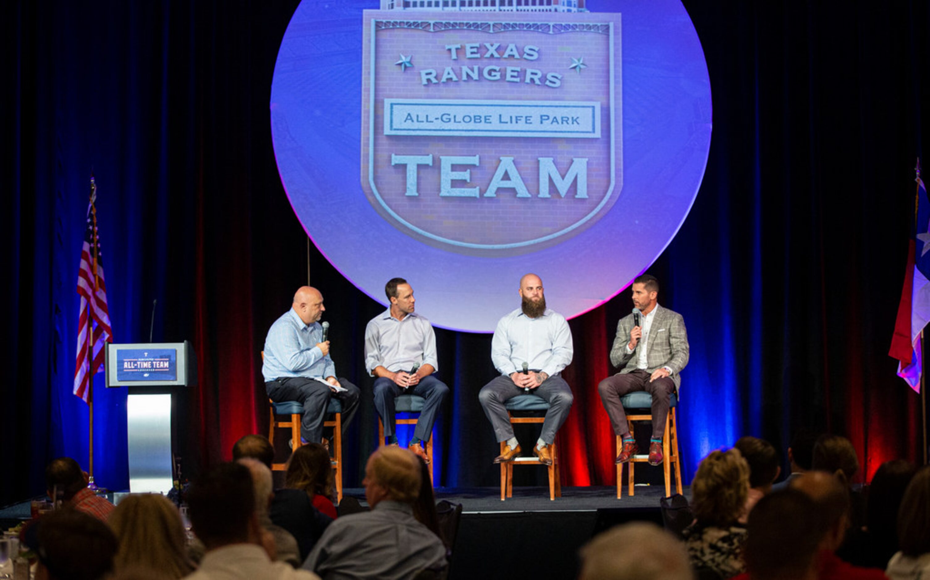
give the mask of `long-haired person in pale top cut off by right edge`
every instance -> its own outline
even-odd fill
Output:
[[[897,545],[885,574],[891,580],[930,578],[930,467],[910,480],[897,511]]]

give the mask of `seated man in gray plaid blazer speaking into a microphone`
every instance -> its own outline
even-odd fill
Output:
[[[658,280],[643,274],[633,281],[633,306],[639,310],[617,323],[617,336],[610,349],[610,362],[621,367],[598,385],[604,409],[610,416],[614,432],[623,438],[623,449],[616,463],[630,461],[636,455],[636,441],[630,434],[627,414],[620,397],[636,390],[652,395],[652,440],[649,463],[662,463],[662,435],[669,415],[671,395],[681,384],[684,365],[688,363],[688,335],[684,319],[677,312],[658,305]]]

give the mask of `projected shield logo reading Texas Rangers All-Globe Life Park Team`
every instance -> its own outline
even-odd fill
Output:
[[[620,23],[366,10],[368,201],[399,231],[472,256],[521,255],[590,227],[622,190]]]

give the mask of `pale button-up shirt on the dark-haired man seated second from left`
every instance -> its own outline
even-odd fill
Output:
[[[369,375],[374,376],[379,366],[392,373],[409,371],[418,362],[439,370],[436,334],[425,317],[410,312],[404,320],[397,320],[388,309],[365,326],[365,369]]]

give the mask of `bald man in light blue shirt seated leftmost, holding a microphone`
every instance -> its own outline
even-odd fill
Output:
[[[336,365],[329,358],[329,341],[323,340],[318,322],[325,310],[320,291],[303,286],[294,295],[291,310],[274,321],[265,338],[261,365],[265,391],[273,402],[303,404],[300,439],[305,443],[323,439],[330,397],[342,402],[343,433],[358,408],[358,387],[336,378]]]

